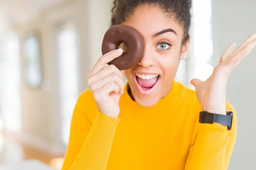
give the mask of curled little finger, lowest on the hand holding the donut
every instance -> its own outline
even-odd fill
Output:
[[[119,86],[115,82],[108,82],[103,85],[98,91],[93,92],[96,101],[106,100],[111,93],[118,94]]]

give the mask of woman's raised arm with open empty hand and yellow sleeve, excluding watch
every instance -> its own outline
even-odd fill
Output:
[[[225,105],[228,78],[233,68],[256,47],[256,35],[250,35],[236,51],[235,47],[236,43],[229,45],[207,80],[192,79],[191,84],[195,86],[203,111],[225,114],[226,109],[230,110]],[[196,130],[195,143],[191,147],[186,170],[226,170],[236,139],[235,113],[230,131],[218,124],[198,123]]]

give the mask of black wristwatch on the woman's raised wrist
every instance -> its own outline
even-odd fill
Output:
[[[227,115],[208,113],[207,111],[200,112],[199,122],[200,123],[219,123],[223,126],[227,126],[227,130],[231,130],[233,121],[233,113],[227,111]]]

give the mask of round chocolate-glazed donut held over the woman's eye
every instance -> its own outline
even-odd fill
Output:
[[[136,65],[143,57],[144,41],[141,34],[133,27],[116,25],[106,31],[102,42],[102,55],[119,48],[125,42],[128,50],[113,59],[108,65],[115,65],[119,70],[127,70]]]

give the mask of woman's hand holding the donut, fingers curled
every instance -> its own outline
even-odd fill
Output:
[[[119,115],[119,99],[124,93],[124,71],[120,71],[114,65],[109,65],[106,68],[105,66],[108,62],[119,57],[122,52],[122,48],[119,48],[104,54],[87,77],[87,84],[93,92],[98,110],[114,118]]]

